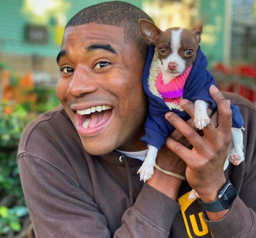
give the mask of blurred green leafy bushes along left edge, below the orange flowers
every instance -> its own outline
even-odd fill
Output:
[[[5,199],[12,207],[0,206],[0,234],[10,230],[19,231],[19,218],[28,214],[16,155],[22,131],[35,117],[28,114],[22,105],[15,105],[13,112],[6,114],[4,109],[8,106],[8,103],[0,104],[0,201],[3,203]],[[8,202],[8,198],[11,202]]]

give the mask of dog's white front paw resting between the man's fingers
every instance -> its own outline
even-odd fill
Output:
[[[194,123],[196,127],[202,130],[204,127],[209,124],[210,119],[207,115],[207,107],[208,103],[203,100],[196,100],[195,101],[195,118]]]

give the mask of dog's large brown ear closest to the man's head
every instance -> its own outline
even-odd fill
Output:
[[[146,39],[149,45],[155,46],[162,31],[152,22],[146,19],[139,19],[140,34]]]

